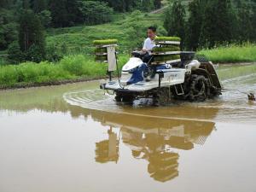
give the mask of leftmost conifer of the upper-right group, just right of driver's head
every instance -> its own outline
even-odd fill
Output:
[[[174,0],[165,13],[164,26],[169,36],[182,38],[181,46],[185,38],[185,9],[181,0]]]

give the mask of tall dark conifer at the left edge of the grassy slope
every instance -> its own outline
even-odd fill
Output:
[[[45,58],[44,27],[38,15],[32,10],[24,10],[20,17],[19,30],[20,50],[26,54],[29,61],[41,61]]]

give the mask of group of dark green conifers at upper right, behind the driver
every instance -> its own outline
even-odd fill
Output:
[[[185,10],[183,1],[171,1],[165,27],[169,35],[183,38],[187,49],[256,41],[255,0],[193,0]]]

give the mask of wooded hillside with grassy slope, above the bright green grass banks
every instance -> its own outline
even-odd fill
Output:
[[[104,38],[118,38],[119,51],[131,51],[142,47],[148,26],[180,37],[183,49],[256,41],[256,0],[167,2],[154,17],[148,12],[166,1],[0,0],[0,51],[10,63],[60,61],[90,53],[91,42]]]

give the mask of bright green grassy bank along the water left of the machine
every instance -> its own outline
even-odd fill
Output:
[[[128,60],[119,56],[119,69]],[[93,61],[86,55],[66,56],[58,63],[44,61],[0,67],[0,88],[55,83],[62,80],[96,79],[106,76],[107,64]]]

